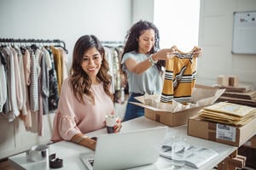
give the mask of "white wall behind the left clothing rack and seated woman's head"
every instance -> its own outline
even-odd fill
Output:
[[[124,41],[131,17],[131,0],[0,0],[0,37],[61,39],[71,60],[74,43],[84,34]],[[26,132],[18,118],[8,122],[0,115],[0,159],[48,143],[53,116],[44,116],[40,137]]]

